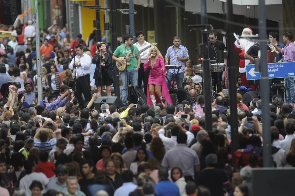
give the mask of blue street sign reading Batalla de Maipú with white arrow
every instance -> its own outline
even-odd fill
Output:
[[[295,62],[268,63],[268,78],[287,78],[295,76]],[[260,79],[261,73],[255,71],[255,65],[246,66],[247,80]]]

